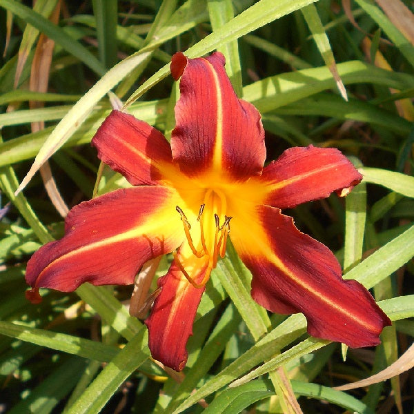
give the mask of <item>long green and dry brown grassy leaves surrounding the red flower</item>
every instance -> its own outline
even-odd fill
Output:
[[[0,412],[297,413],[295,398],[305,413],[412,412],[412,12],[400,0],[0,0]],[[231,248],[202,299],[183,375],[149,358],[146,328],[124,306],[130,287],[26,301],[26,261],[61,237],[67,208],[126,185],[88,144],[111,105],[168,136],[171,55],[215,49],[262,112],[268,161],[290,146],[335,146],[363,173],[345,201],[288,214],[335,252],[345,277],[373,288],[395,321],[381,346],[346,353],[308,338],[302,315],[268,315]],[[384,377],[401,375],[333,388],[390,366]]]

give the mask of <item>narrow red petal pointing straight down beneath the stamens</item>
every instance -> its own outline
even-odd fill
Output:
[[[188,244],[179,249],[177,257],[195,282],[201,282],[208,266],[208,257],[197,259]],[[205,288],[195,288],[172,262],[168,273],[158,279],[161,292],[155,299],[148,326],[151,355],[175,371],[186,366],[186,344],[193,335],[193,322]]]

